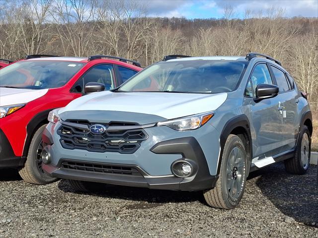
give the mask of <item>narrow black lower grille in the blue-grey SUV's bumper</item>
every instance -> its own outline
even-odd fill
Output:
[[[113,174],[113,175],[128,175],[135,177],[143,177],[142,174],[133,167],[128,166],[113,166],[107,164],[79,163],[72,161],[63,161],[61,169],[86,171],[98,174]]]

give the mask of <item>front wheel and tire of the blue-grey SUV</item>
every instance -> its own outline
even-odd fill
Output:
[[[204,192],[211,207],[233,209],[241,200],[246,183],[246,150],[237,135],[229,135],[224,145],[221,169],[216,186]]]

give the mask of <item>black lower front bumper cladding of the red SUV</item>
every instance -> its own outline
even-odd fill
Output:
[[[16,168],[23,166],[25,159],[14,155],[12,146],[0,129],[0,168]]]

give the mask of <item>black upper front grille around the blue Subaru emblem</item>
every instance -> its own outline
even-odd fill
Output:
[[[142,141],[148,138],[143,129],[125,129],[125,126],[136,125],[131,122],[109,122],[98,123],[108,126],[122,126],[120,130],[107,131],[102,134],[93,134],[89,127],[93,124],[87,120],[67,121],[75,123],[73,125],[63,124],[57,130],[60,135],[60,143],[65,149],[81,149],[90,152],[118,152],[121,154],[132,154],[140,147]],[[86,129],[77,125],[87,126]]]

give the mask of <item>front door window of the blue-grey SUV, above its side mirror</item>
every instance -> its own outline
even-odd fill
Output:
[[[256,95],[255,91],[258,84],[273,84],[273,80],[265,63],[260,63],[255,66],[252,75],[250,76],[250,82],[252,83],[251,88],[253,90],[253,95]]]

